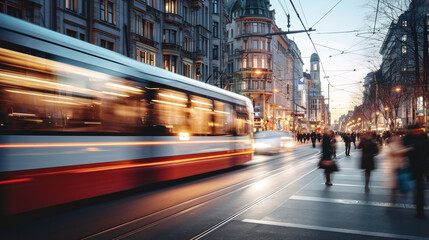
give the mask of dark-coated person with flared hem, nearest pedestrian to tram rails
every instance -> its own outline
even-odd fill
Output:
[[[322,157],[319,161],[319,168],[325,169],[326,186],[332,186],[331,173],[338,171],[338,167],[332,160],[331,131],[325,130],[322,137]]]

